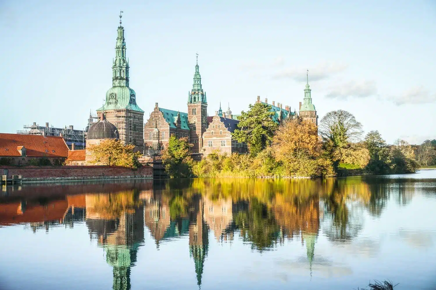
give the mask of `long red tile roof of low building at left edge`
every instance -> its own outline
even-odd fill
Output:
[[[62,137],[0,133],[0,156],[21,156],[17,148],[26,147],[26,156],[68,157]]]

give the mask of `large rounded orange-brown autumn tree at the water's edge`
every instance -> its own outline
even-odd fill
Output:
[[[323,156],[315,124],[301,119],[287,120],[276,131],[272,143],[276,160],[290,175],[332,175],[331,163]]]

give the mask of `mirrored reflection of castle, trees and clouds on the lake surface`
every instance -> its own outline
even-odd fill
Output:
[[[3,188],[0,226],[24,223],[34,232],[49,232],[51,227],[70,229],[85,223],[113,269],[113,289],[131,288],[130,271],[144,245],[144,233],[150,233],[157,249],[186,237],[198,287],[204,262],[213,254],[209,239],[232,243],[235,237],[254,252],[274,250],[296,239],[305,248],[304,256],[276,264],[290,272],[330,277],[353,271],[316,253],[320,235],[343,245],[347,253],[374,257],[378,241],[352,244],[364,229],[365,214],[380,218],[391,199],[405,207],[416,188],[426,189],[428,195],[433,190],[434,197],[435,180],[352,177],[22,185]],[[433,246],[431,233],[400,230],[397,235],[415,247]]]

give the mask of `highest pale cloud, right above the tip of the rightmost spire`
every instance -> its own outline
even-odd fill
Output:
[[[333,74],[347,69],[343,63],[320,63],[315,67],[288,67],[274,73],[273,79],[289,78],[297,82],[306,81],[306,72],[309,70],[309,81],[324,80]]]

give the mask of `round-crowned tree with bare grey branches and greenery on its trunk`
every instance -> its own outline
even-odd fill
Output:
[[[320,121],[318,131],[324,140],[334,168],[337,169],[346,151],[353,150],[351,142],[358,142],[363,133],[362,124],[350,112],[336,110],[328,112]]]

